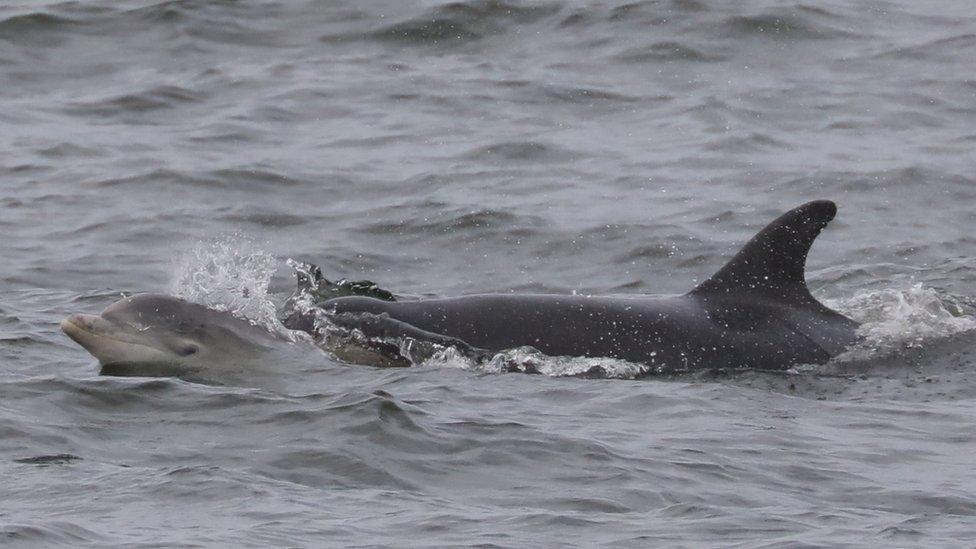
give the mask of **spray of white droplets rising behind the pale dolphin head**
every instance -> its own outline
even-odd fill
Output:
[[[275,271],[274,256],[253,241],[241,235],[223,236],[198,242],[181,258],[171,293],[287,334],[268,289]]]

